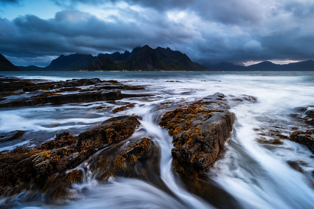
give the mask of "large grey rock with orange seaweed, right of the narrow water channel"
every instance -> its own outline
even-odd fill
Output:
[[[160,125],[173,135],[171,154],[179,173],[202,175],[219,158],[235,121],[224,97],[215,93],[186,108],[166,112],[161,119]]]

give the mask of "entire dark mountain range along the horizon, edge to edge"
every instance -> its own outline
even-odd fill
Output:
[[[284,65],[264,61],[255,65],[234,65],[230,62],[218,64],[192,62],[180,51],[169,47],[156,49],[148,45],[136,47],[132,52],[114,52],[97,56],[71,54],[60,55],[46,67],[15,66],[0,54],[0,71],[314,71],[314,60]]]

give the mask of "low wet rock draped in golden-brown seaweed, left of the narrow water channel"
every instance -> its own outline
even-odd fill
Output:
[[[138,138],[125,144],[113,144],[87,164],[98,180],[117,175],[146,180],[148,172],[159,169],[159,152],[150,138]]]

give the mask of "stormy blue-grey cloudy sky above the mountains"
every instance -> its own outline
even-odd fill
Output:
[[[198,63],[314,59],[314,1],[0,0],[0,54],[14,65],[146,44]]]

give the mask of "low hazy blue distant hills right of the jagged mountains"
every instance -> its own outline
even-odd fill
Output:
[[[260,62],[254,65],[234,65],[230,62],[221,62],[216,65],[206,65],[208,69],[216,71],[314,71],[314,60],[294,62],[284,65],[274,64],[270,61]]]

